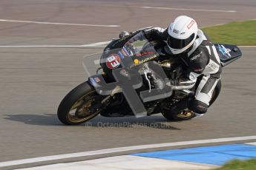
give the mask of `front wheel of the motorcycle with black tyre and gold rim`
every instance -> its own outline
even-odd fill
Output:
[[[84,82],[63,98],[58,108],[58,118],[66,125],[84,123],[102,112],[102,98],[96,90]]]

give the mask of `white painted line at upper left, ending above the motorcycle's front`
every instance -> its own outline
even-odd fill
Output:
[[[60,23],[60,22],[22,21],[22,20],[10,20],[10,19],[0,19],[0,21],[1,22],[30,23],[30,24],[55,24],[55,25],[88,26],[88,27],[120,27],[119,25],[70,24],[70,23]]]

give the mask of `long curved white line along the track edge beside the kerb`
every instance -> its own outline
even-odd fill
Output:
[[[119,148],[113,148],[113,149],[101,149],[101,150],[89,151],[89,152],[78,152],[73,154],[58,154],[58,155],[47,156],[47,157],[35,157],[35,158],[29,158],[24,160],[11,160],[6,162],[1,162],[0,167],[17,166],[17,165],[22,165],[26,163],[38,163],[38,162],[49,161],[49,160],[61,160],[61,159],[72,158],[72,157],[86,157],[86,156],[99,155],[99,154],[135,151],[138,149],[154,149],[154,148],[171,147],[171,146],[188,146],[188,145],[194,145],[194,144],[221,143],[221,142],[231,142],[231,141],[239,141],[239,140],[256,140],[256,135],[244,136],[244,137],[225,137],[225,138],[206,139],[206,140],[191,140],[191,141],[174,142],[174,143],[157,143],[157,144],[148,144],[148,145],[140,145],[140,146],[125,146],[125,147],[119,147]]]

